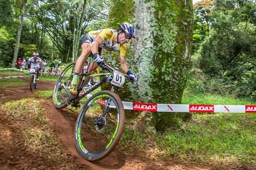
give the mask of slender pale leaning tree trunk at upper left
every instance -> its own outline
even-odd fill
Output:
[[[27,1],[23,1],[22,2],[22,6],[20,8],[20,16],[19,16],[19,23],[18,23],[18,33],[17,33],[17,37],[16,37],[16,43],[15,43],[15,47],[14,47],[14,54],[13,54],[13,58],[12,58],[12,68],[15,67],[16,64],[16,60],[17,60],[17,56],[18,56],[18,46],[19,46],[19,42],[20,42],[20,37],[22,36],[22,25],[23,25],[23,19],[24,19],[24,15],[25,15],[25,6],[26,6]]]

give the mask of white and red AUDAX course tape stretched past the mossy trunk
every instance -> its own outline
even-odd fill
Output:
[[[92,95],[87,94],[89,99]],[[98,99],[97,103],[104,105],[106,101]],[[122,102],[125,110],[151,112],[191,112],[191,113],[256,113],[256,105],[183,105]],[[114,103],[110,107],[115,107]]]

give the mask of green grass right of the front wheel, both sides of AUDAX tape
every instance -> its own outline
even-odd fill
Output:
[[[250,99],[218,94],[195,95],[188,91],[185,91],[182,101],[183,104],[256,105]],[[235,165],[256,163],[256,114],[196,113],[189,121],[181,122],[180,128],[168,129],[164,133],[140,131],[143,125],[136,126],[138,123],[125,120],[121,147],[145,152],[143,154],[158,159],[172,157],[188,162],[213,161]],[[144,129],[148,128],[144,125]]]

